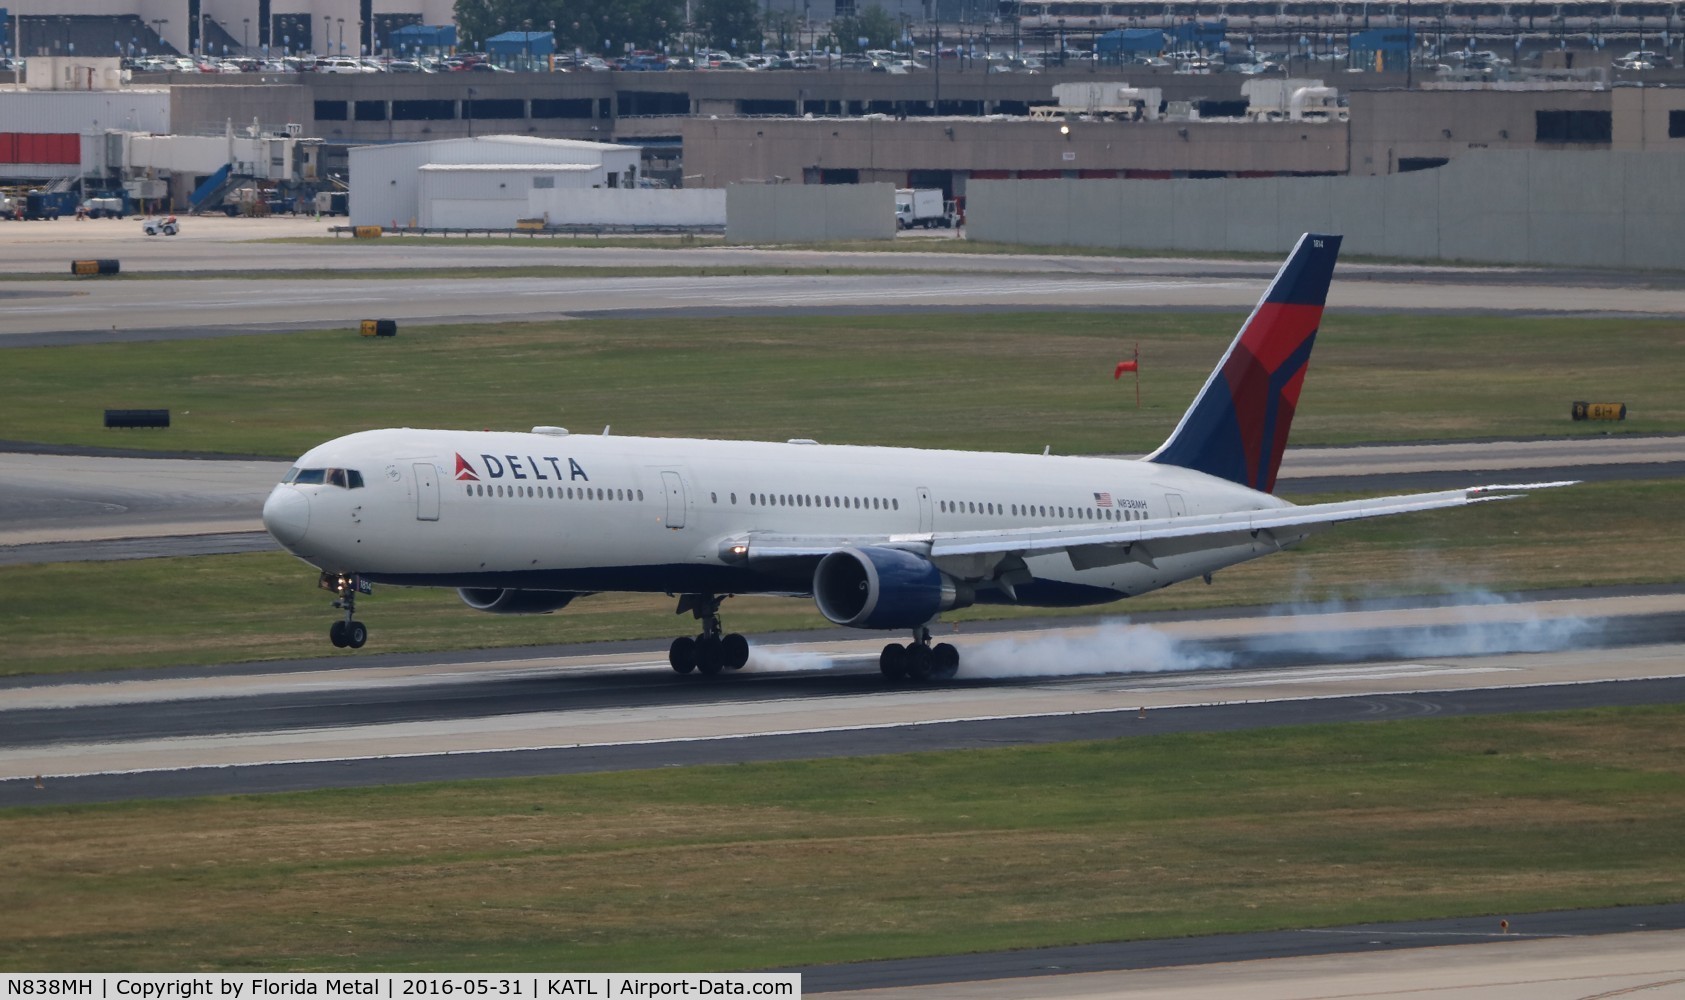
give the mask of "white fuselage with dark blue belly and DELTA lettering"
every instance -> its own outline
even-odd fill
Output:
[[[725,551],[753,536],[917,540],[1291,506],[1201,472],[1121,459],[559,432],[371,430],[312,449],[288,479],[265,518],[324,572],[580,594],[809,594],[810,565],[780,572]],[[1033,555],[1031,582],[1011,595],[984,587],[976,599],[1104,604],[1287,541],[1085,570],[1065,553]]]

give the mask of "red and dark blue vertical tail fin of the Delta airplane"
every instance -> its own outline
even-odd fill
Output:
[[[1336,256],[1340,236],[1299,238],[1222,364],[1149,462],[1276,489]]]

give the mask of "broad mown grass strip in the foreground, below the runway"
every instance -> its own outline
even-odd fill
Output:
[[[1685,708],[0,811],[0,968],[725,970],[1685,899]]]

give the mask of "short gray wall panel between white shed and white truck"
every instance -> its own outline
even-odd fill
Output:
[[[895,239],[893,184],[733,184],[726,241]]]

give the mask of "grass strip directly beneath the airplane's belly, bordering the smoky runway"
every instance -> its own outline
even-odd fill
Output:
[[[1665,479],[1345,524],[1217,573],[1212,587],[1188,582],[1067,614],[1678,582],[1682,508],[1685,481]],[[0,675],[359,656],[327,644],[330,595],[315,589],[315,570],[288,555],[0,567],[0,592],[7,594]],[[377,587],[359,602],[372,636],[362,654],[666,639],[693,626],[672,607],[661,595],[613,594],[576,600],[554,616],[487,616],[450,590]],[[962,622],[964,634],[971,621],[1053,614],[1060,612],[979,607],[945,614],[944,622]],[[829,627],[810,600],[797,599],[733,599],[725,619],[750,636]]]

